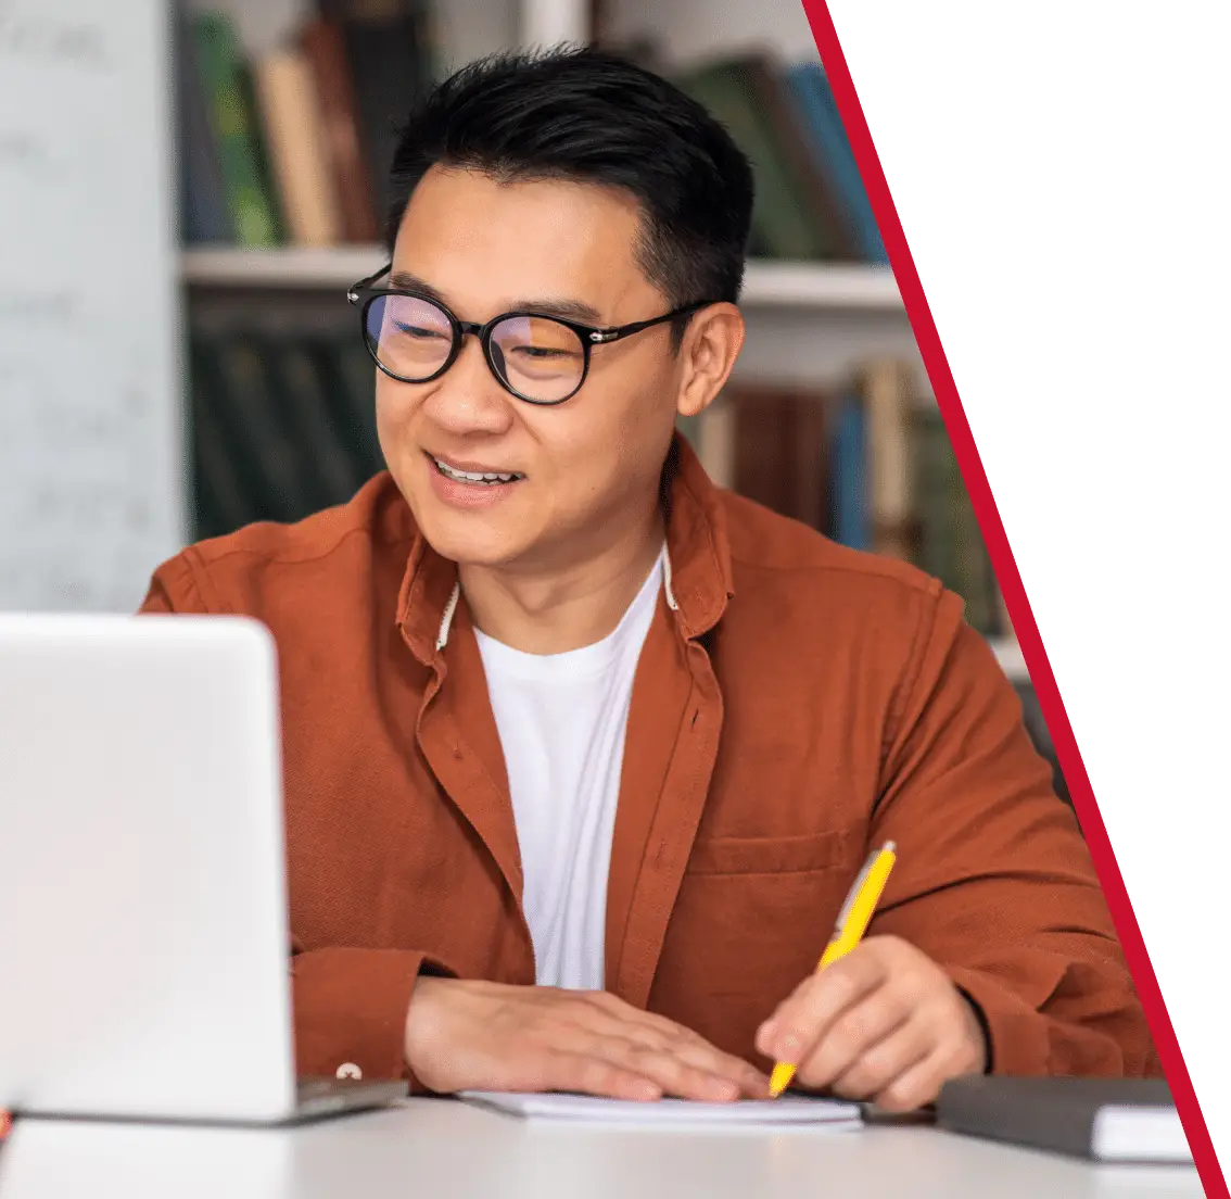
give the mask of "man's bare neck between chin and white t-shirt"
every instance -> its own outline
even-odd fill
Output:
[[[524,654],[565,654],[613,633],[662,549],[662,517],[551,570],[460,566],[462,593],[483,633]]]

